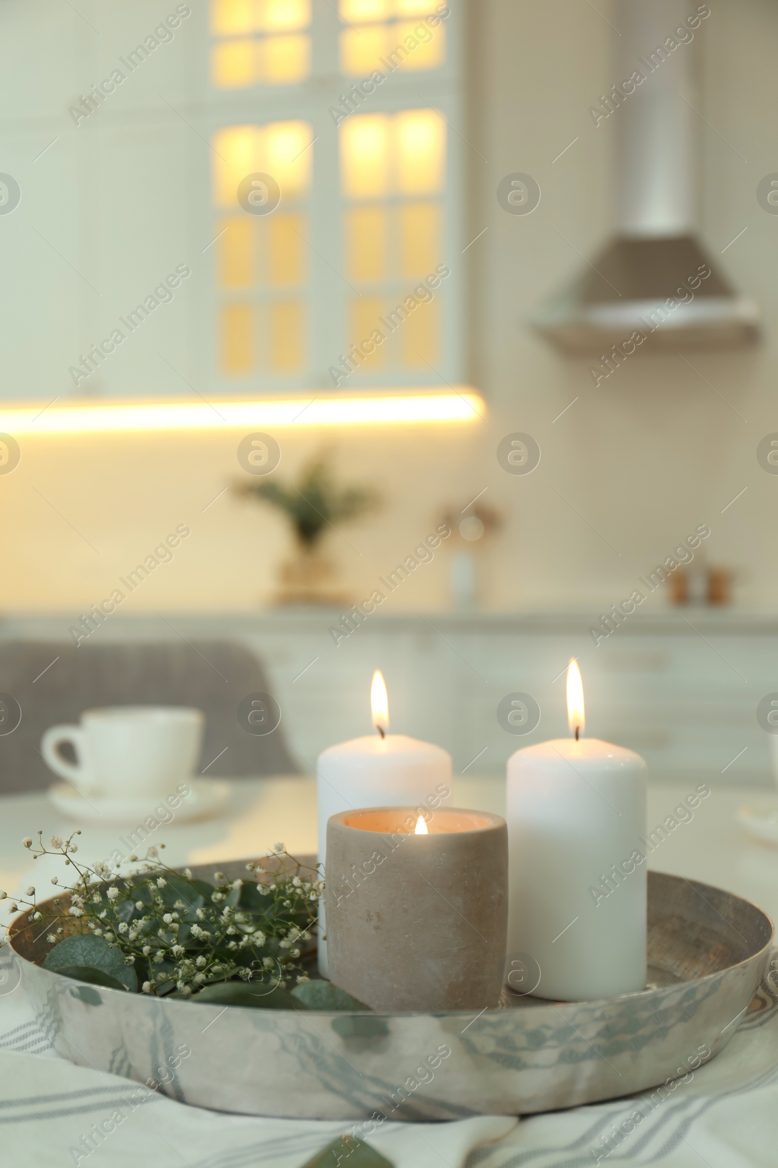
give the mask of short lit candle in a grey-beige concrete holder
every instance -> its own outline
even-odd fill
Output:
[[[374,1010],[497,1006],[507,827],[488,812],[369,807],[327,825],[330,979]]]

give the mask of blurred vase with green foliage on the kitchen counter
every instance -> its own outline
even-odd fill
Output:
[[[378,506],[378,495],[366,486],[338,487],[330,461],[317,454],[302,471],[297,482],[276,479],[241,482],[240,494],[269,503],[292,524],[295,551],[280,570],[279,604],[344,604],[336,573],[322,551],[324,537]]]

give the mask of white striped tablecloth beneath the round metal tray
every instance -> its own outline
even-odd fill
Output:
[[[0,951],[0,978],[8,955],[8,950]],[[351,1127],[225,1115],[154,1092],[133,1105],[133,1086],[57,1058],[24,1000],[23,986],[0,993],[2,1168],[84,1163],[90,1168],[301,1168]],[[721,1055],[685,1082],[677,1080],[667,1098],[653,1107],[649,1094],[518,1122],[497,1115],[450,1124],[386,1121],[367,1142],[395,1168],[583,1168],[596,1163],[776,1168],[776,987],[763,982]],[[111,1127],[114,1112],[122,1113],[124,1120],[114,1118],[114,1129],[103,1141],[93,1139],[94,1150],[89,1152],[84,1138],[90,1138],[93,1125],[108,1121]],[[636,1113],[645,1118],[636,1122]],[[348,1159],[342,1164],[348,1168]]]

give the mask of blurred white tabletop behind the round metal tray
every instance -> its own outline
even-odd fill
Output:
[[[258,855],[276,841],[293,855],[316,851],[316,784],[313,778],[280,776],[240,779],[231,784],[229,802],[217,818],[201,822],[161,826],[148,843],[164,843],[166,863],[213,863]],[[672,813],[694,784],[665,786],[649,791],[649,830]],[[649,867],[658,871],[705,881],[754,901],[773,920],[778,919],[778,848],[758,843],[735,822],[737,808],[749,799],[764,800],[765,792],[713,790],[694,812],[691,822],[681,823],[650,856]],[[502,779],[461,777],[454,780],[454,801],[502,814],[505,785]],[[149,808],[150,809],[150,808]],[[48,841],[82,827],[79,855],[86,860],[107,858],[124,834],[121,827],[85,826],[68,822],[51,806],[45,792],[7,795],[0,799],[0,888],[15,895],[35,883],[38,897],[48,895],[52,875],[65,875],[62,861],[49,857],[33,862],[22,839],[38,828]],[[126,850],[126,848],[122,848]],[[139,850],[142,855],[142,849]]]

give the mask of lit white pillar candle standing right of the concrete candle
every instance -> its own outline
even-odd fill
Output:
[[[591,1001],[645,988],[646,765],[580,737],[575,661],[568,719],[574,738],[509,759],[509,958],[539,975],[535,996]]]

